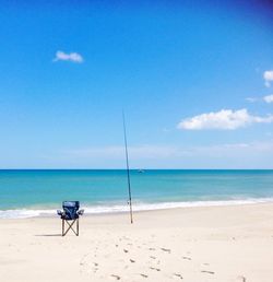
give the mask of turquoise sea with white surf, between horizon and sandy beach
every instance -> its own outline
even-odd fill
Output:
[[[131,171],[135,210],[273,201],[273,171]],[[88,213],[128,209],[122,169],[0,171],[0,218],[54,213],[80,200]]]

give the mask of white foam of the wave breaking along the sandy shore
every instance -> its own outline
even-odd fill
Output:
[[[162,202],[162,203],[143,203],[133,204],[134,211],[152,211],[165,210],[176,208],[191,208],[191,207],[217,207],[217,205],[239,205],[251,203],[266,203],[273,202],[273,198],[251,198],[245,200],[223,200],[223,201],[187,201],[187,202]],[[119,213],[127,212],[127,204],[112,205],[90,205],[82,207],[85,214],[103,214],[103,213]],[[52,216],[56,215],[56,210],[0,210],[0,219],[27,219],[37,216]]]

